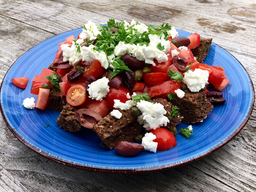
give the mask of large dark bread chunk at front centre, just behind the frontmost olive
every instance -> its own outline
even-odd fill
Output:
[[[110,149],[114,148],[120,141],[131,142],[141,131],[141,127],[136,122],[137,118],[132,115],[130,109],[119,111],[122,113],[120,119],[109,114],[93,127],[97,135]]]

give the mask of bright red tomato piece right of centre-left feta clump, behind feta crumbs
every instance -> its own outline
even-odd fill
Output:
[[[127,99],[126,94],[129,93],[129,91],[126,88],[119,87],[119,88],[109,88],[109,92],[107,93],[104,100],[109,104],[110,109],[115,109],[114,106],[114,100],[118,99],[120,102],[125,103],[129,99]]]

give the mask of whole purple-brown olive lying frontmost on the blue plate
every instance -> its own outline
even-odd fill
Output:
[[[143,149],[144,146],[128,141],[121,141],[116,145],[116,147],[114,147],[114,150],[123,156],[135,156],[139,154]]]

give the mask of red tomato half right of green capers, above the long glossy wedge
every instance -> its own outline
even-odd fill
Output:
[[[162,83],[166,80],[168,73],[144,73],[142,79],[151,86]]]

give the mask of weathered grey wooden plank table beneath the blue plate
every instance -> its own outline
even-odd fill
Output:
[[[88,20],[169,23],[228,50],[256,82],[255,0],[0,0],[0,81],[32,46]],[[1,83],[0,82],[0,83]],[[256,191],[256,111],[230,143],[188,165],[141,174],[60,165],[18,141],[0,118],[0,191]]]

